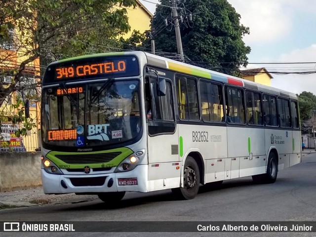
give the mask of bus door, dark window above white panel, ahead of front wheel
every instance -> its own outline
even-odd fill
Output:
[[[150,188],[153,191],[178,187],[180,183],[180,169],[177,168],[180,167],[179,142],[171,80],[147,77],[145,97]]]

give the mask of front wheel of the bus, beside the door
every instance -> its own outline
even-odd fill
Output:
[[[177,199],[194,199],[197,196],[199,181],[200,177],[197,162],[191,156],[188,156],[184,164],[183,171],[184,187],[172,189],[172,193],[176,196]]]

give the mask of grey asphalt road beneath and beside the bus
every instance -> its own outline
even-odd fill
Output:
[[[316,221],[316,153],[278,172],[274,184],[251,177],[200,188],[194,200],[175,201],[171,191],[127,193],[118,206],[93,200],[7,209],[0,221]],[[123,223],[122,223],[123,225]],[[8,235],[9,234],[9,235]],[[0,233],[0,236],[316,236],[316,233]]]

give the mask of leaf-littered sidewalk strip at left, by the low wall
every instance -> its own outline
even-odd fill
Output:
[[[0,210],[18,206],[38,206],[44,204],[82,203],[97,199],[96,195],[62,194],[45,195],[41,186],[15,191],[0,192]]]

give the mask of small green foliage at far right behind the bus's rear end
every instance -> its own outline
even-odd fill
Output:
[[[298,96],[301,121],[311,119],[313,111],[316,110],[316,96],[312,92],[303,91]]]

